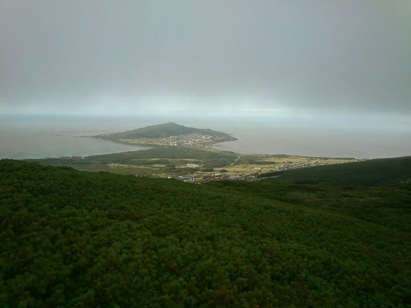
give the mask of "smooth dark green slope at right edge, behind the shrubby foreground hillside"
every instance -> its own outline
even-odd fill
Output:
[[[400,186],[411,183],[411,156],[371,159],[268,172],[262,181],[347,186]]]

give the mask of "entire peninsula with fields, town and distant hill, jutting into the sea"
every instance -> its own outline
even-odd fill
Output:
[[[302,167],[348,163],[356,159],[301,157],[285,154],[236,154],[212,149],[215,142],[236,140],[229,134],[210,129],[195,129],[175,123],[147,126],[123,133],[86,136],[116,143],[143,143],[148,149],[84,157],[36,159],[44,165],[69,165],[78,170],[109,171],[124,175],[175,177],[189,180],[253,179],[265,172]],[[125,140],[125,138],[127,140]]]

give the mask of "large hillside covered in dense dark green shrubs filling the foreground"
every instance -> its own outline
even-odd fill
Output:
[[[408,307],[411,189],[0,161],[1,307]]]

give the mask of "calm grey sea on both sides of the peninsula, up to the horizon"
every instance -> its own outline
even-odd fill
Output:
[[[175,122],[231,133],[216,149],[245,154],[386,158],[411,155],[407,117],[92,117],[0,115],[0,159],[88,156],[143,147],[81,136]]]

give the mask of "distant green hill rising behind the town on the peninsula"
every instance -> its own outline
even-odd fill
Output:
[[[201,135],[210,135],[210,136],[218,136],[218,137],[227,137],[230,140],[237,140],[236,138],[231,137],[229,134],[222,133],[221,131],[213,131],[211,129],[197,129],[194,127],[186,127],[183,125],[175,124],[173,122],[141,127],[139,129],[133,129],[132,131],[125,131],[122,133],[110,133],[110,134],[97,135],[94,137],[107,139],[107,140],[118,140],[118,139],[134,139],[134,138],[170,137],[170,136],[178,136],[178,135],[187,135],[190,133],[198,133]]]

